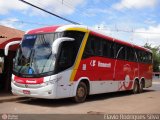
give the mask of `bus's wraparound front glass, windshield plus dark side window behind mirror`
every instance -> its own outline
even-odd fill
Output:
[[[63,42],[54,53],[53,42],[62,37],[75,41]],[[22,77],[41,77],[72,67],[83,37],[84,32],[79,31],[25,35],[14,59],[13,73]]]

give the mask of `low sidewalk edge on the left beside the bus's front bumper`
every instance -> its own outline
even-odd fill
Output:
[[[0,103],[22,100],[24,98],[26,97],[16,96],[13,95],[12,93],[0,92]]]

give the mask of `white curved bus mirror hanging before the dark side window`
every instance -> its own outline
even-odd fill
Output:
[[[74,40],[75,40],[74,38],[69,38],[69,37],[61,37],[61,38],[56,39],[52,44],[52,53],[57,54],[59,45],[62,42],[64,42],[64,41],[74,41]]]

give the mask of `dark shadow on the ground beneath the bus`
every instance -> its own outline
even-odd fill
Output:
[[[154,90],[144,90],[144,93],[153,92]],[[141,93],[141,94],[144,94]],[[93,102],[93,101],[101,101],[106,99],[112,99],[116,97],[125,97],[134,95],[131,91],[122,91],[122,92],[112,92],[112,93],[105,93],[105,94],[98,94],[98,95],[91,95],[88,96],[86,102]],[[75,103],[71,98],[66,99],[39,99],[39,98],[27,98],[25,100],[17,101],[18,103],[22,104],[29,104],[34,106],[44,106],[44,107],[60,107],[60,106],[74,106],[78,105]],[[86,103],[85,102],[85,103]],[[80,103],[80,104],[85,104]]]

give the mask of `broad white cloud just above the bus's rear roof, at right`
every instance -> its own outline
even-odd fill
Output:
[[[153,46],[160,45],[160,24],[132,30],[129,28],[121,28],[120,26],[116,28],[113,25],[109,26],[105,22],[101,22],[100,24],[92,26],[92,28],[105,35],[139,46],[143,46],[145,43],[152,44]]]

